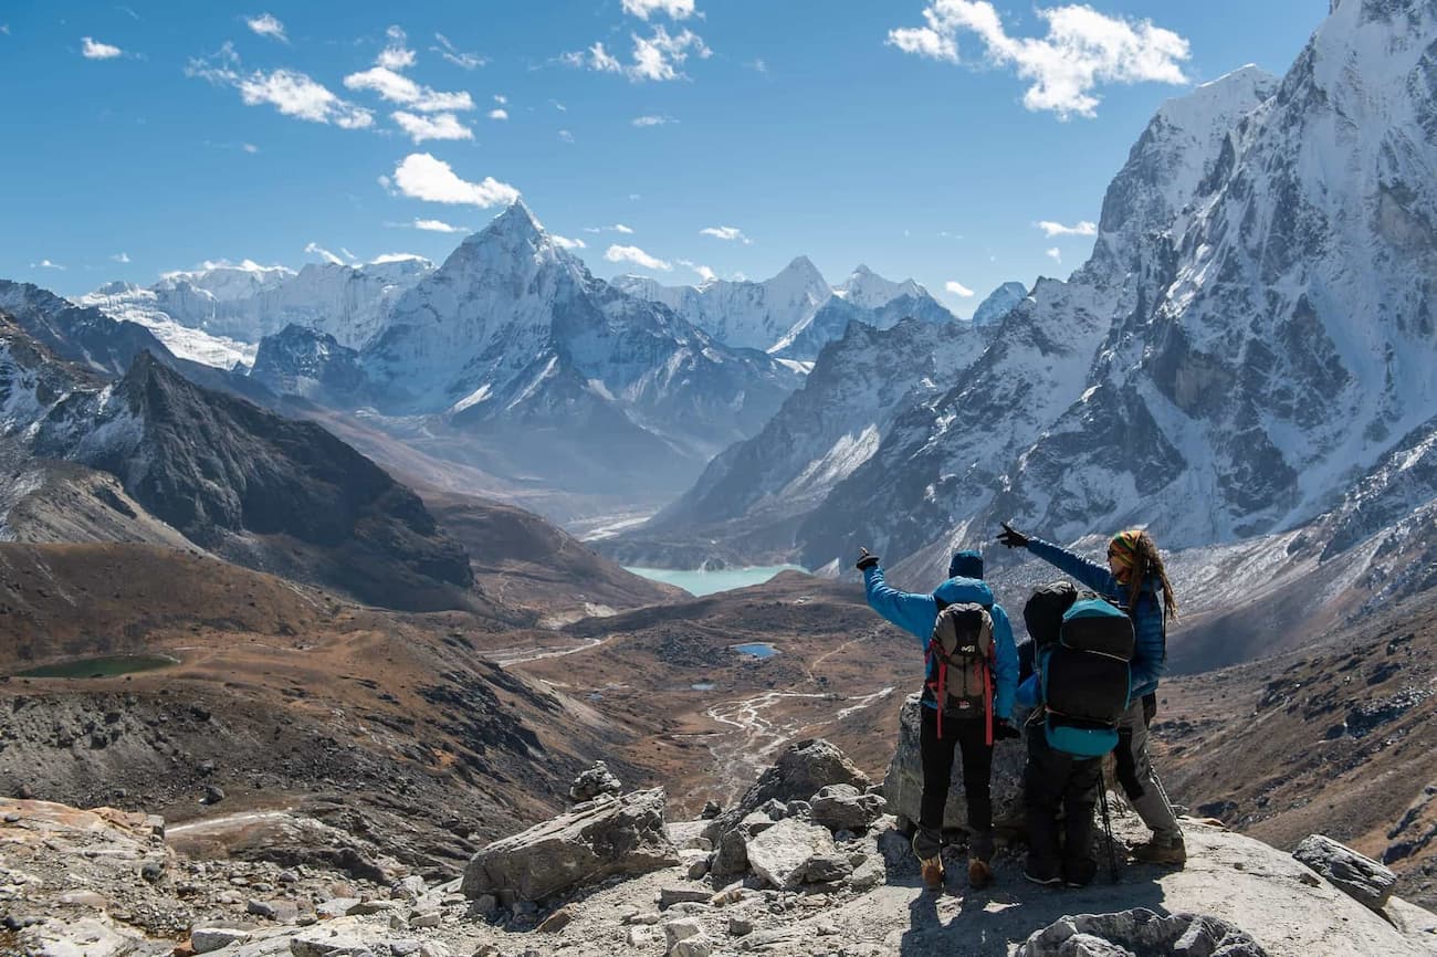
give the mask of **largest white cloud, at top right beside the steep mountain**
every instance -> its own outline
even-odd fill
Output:
[[[990,63],[1032,80],[1023,93],[1027,109],[1052,111],[1062,119],[1094,116],[1099,83],[1187,82],[1180,62],[1190,56],[1188,42],[1151,20],[1109,17],[1076,4],[1036,13],[1048,36],[1015,37],[989,0],[931,0],[923,11],[927,26],[890,30],[888,43],[957,63],[958,36],[973,33]]]

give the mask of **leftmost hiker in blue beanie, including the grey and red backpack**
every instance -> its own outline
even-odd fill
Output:
[[[923,645],[924,683],[918,753],[923,798],[914,854],[928,889],[943,888],[943,809],[954,747],[963,757],[969,805],[969,884],[993,881],[993,741],[1019,737],[1010,717],[1017,693],[1013,625],[983,581],[983,556],[954,552],[948,578],[931,593],[901,592],[884,581],[878,556],[861,549],[868,604]]]

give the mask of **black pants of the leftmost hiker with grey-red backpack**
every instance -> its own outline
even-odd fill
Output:
[[[993,746],[987,743],[983,718],[943,716],[943,737],[938,737],[938,713],[923,707],[918,731],[918,754],[923,759],[923,803],[918,812],[918,856],[937,856],[941,849],[943,809],[948,803],[948,782],[953,777],[954,749],[963,754],[963,796],[969,805],[971,854],[987,861],[993,856],[993,796],[989,779],[993,775]]]

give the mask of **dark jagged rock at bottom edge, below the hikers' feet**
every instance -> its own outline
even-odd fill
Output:
[[[1035,933],[1017,957],[1267,957],[1252,937],[1206,914],[1161,917],[1144,908],[1062,917]]]

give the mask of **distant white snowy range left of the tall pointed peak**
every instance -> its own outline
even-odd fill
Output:
[[[382,329],[394,300],[434,270],[418,256],[345,266],[207,263],[167,273],[145,289],[108,283],[78,302],[151,329],[178,356],[218,368],[253,365],[262,338],[287,325],[328,333],[358,349]]]

